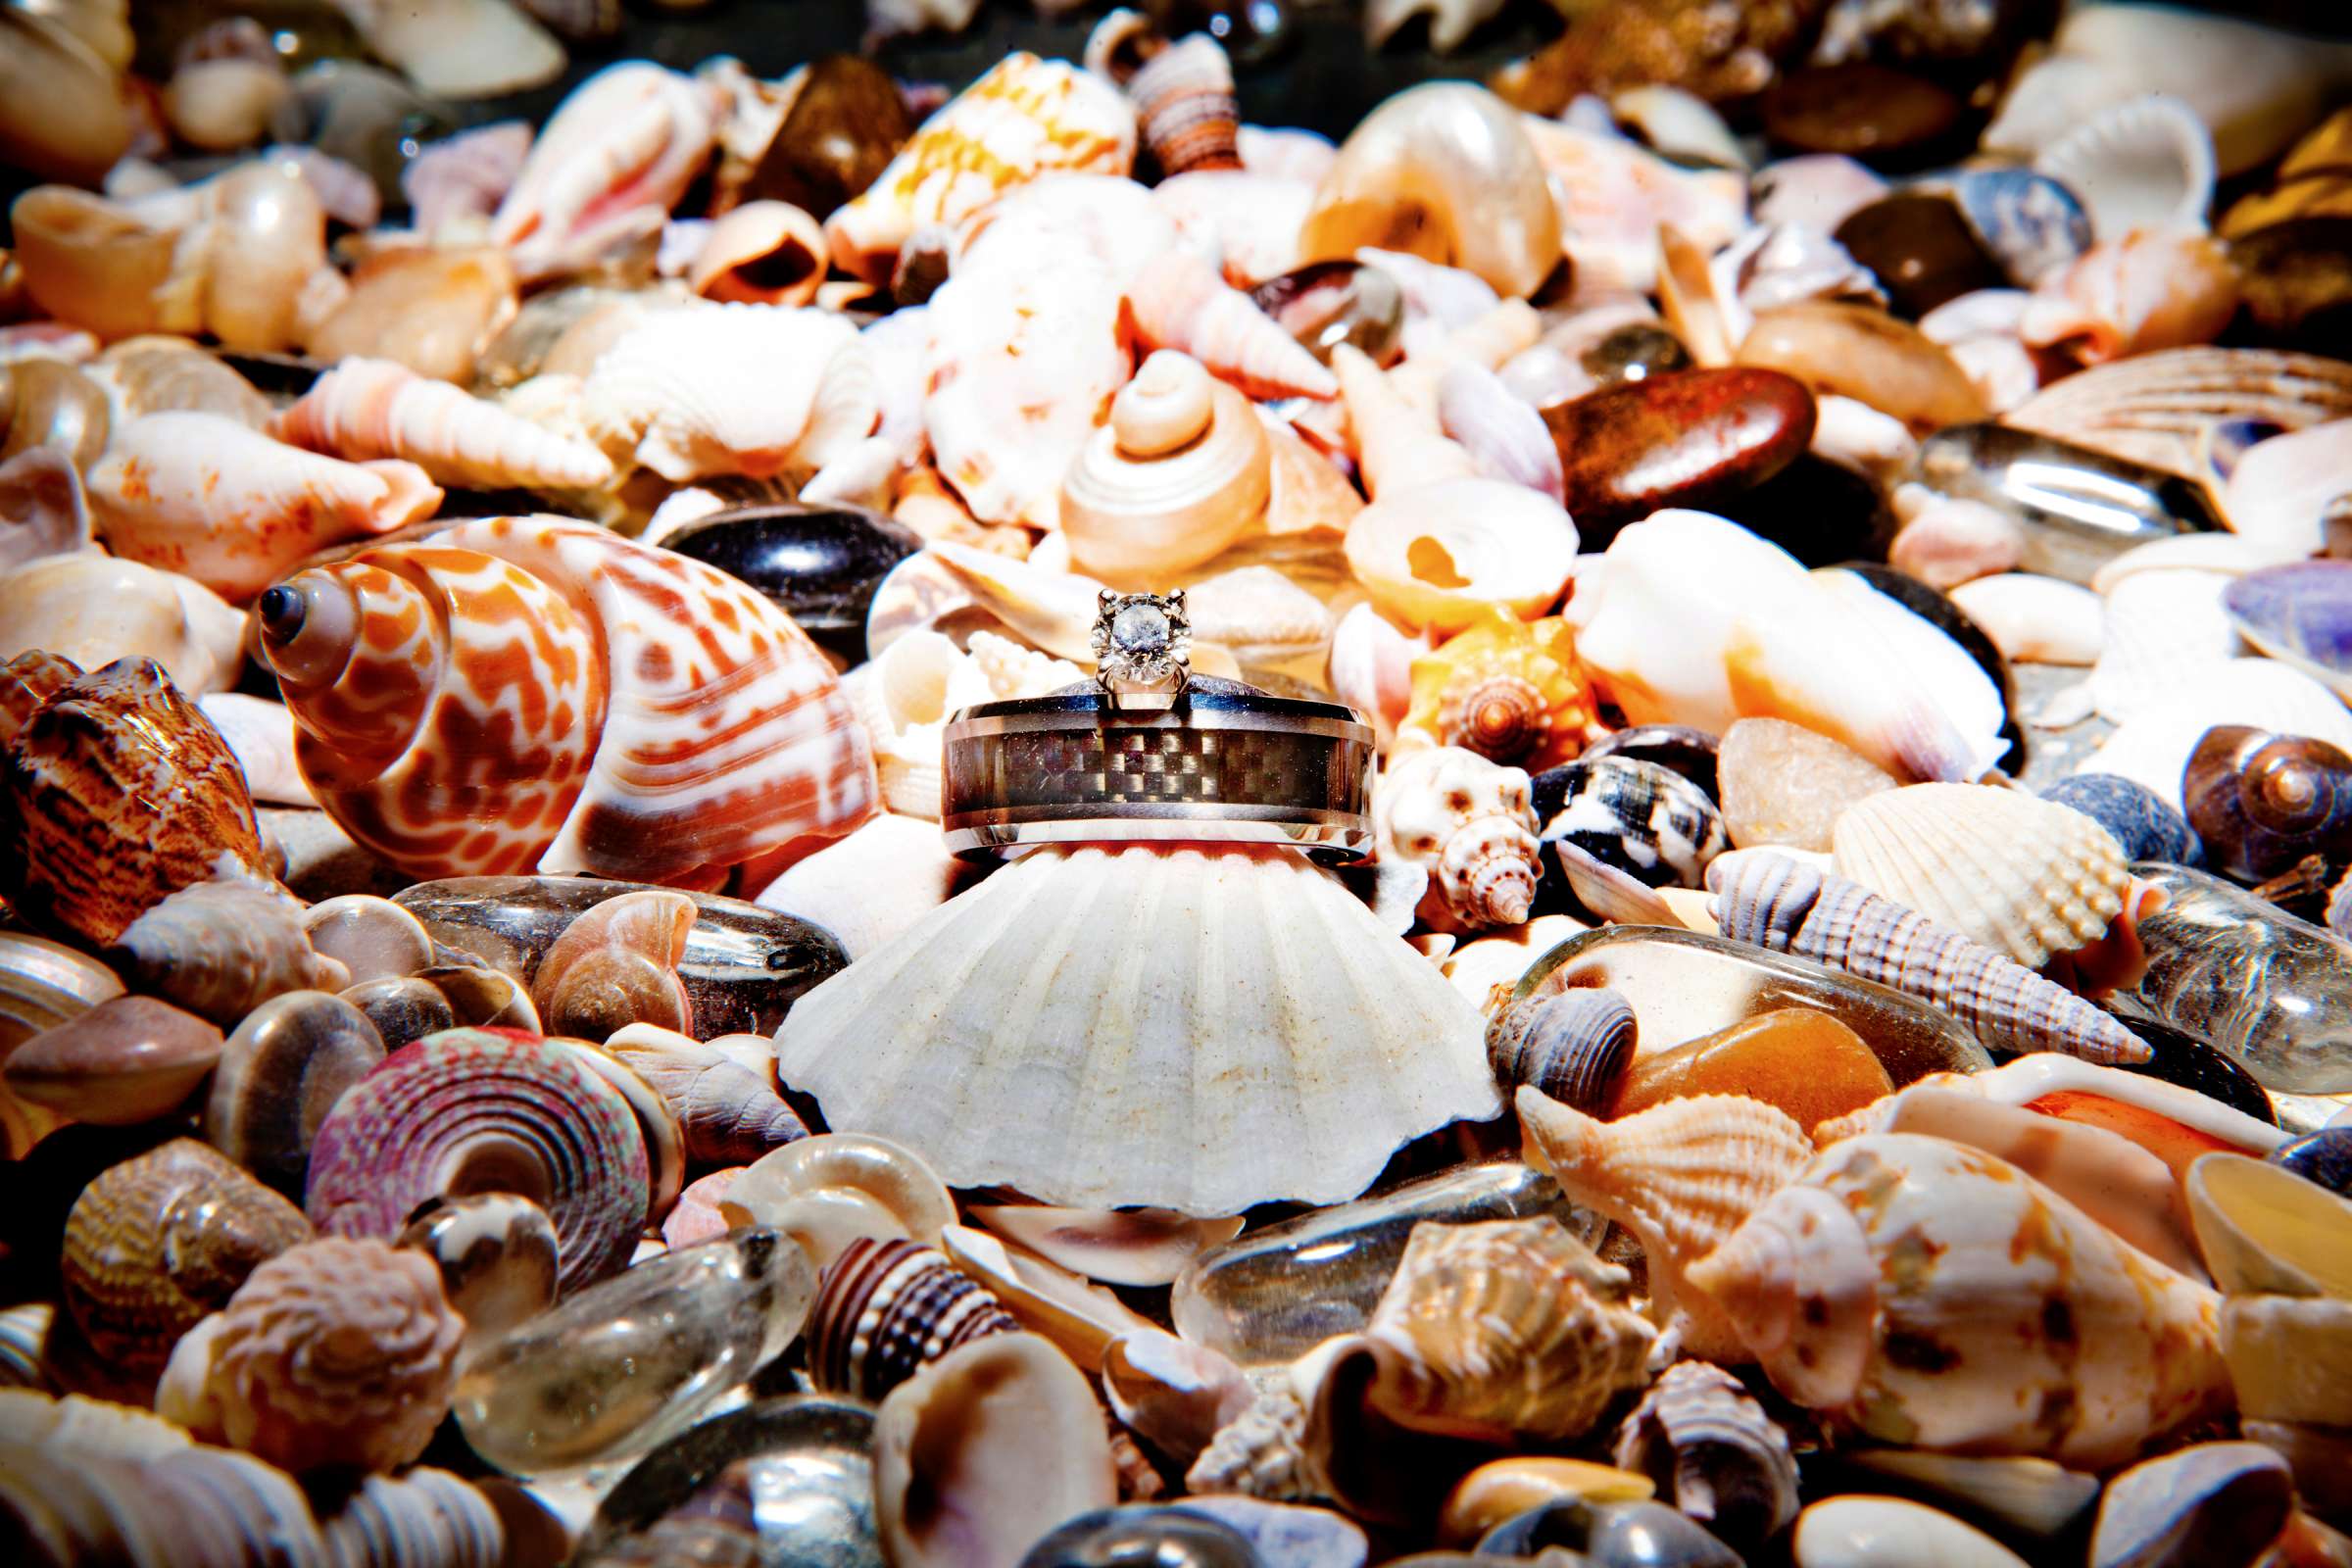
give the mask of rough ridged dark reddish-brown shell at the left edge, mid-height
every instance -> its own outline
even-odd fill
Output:
[[[153,658],[120,658],[33,710],[0,757],[24,835],[9,903],[94,947],[223,870],[270,879],[245,771]]]

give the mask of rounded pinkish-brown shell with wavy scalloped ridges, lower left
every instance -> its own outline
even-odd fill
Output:
[[[167,1387],[200,1389],[200,1432],[285,1469],[400,1469],[449,1413],[463,1335],[430,1258],[325,1237],[256,1267]]]

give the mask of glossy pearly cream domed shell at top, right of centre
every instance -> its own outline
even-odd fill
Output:
[[[1301,261],[1409,249],[1526,296],[1559,266],[1559,212],[1522,115],[1484,87],[1423,82],[1348,134],[1298,233]]]

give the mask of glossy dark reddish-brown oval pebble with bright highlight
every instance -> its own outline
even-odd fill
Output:
[[[1712,510],[1788,468],[1813,440],[1813,395],[1769,369],[1693,369],[1585,393],[1543,411],[1585,550],[1658,508]]]

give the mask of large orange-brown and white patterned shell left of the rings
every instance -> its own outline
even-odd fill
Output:
[[[485,517],[299,571],[261,651],[320,804],[412,877],[708,877],[877,799],[833,668],[668,550]]]

